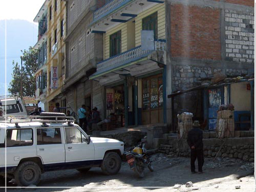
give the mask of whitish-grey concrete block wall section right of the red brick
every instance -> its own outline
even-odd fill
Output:
[[[254,62],[254,13],[225,10],[226,60]]]

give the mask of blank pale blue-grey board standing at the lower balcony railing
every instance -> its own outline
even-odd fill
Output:
[[[141,50],[155,50],[154,31],[141,31]]]

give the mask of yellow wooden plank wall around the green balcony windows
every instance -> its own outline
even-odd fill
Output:
[[[142,19],[157,11],[158,39],[165,39],[165,4],[158,4],[150,9],[143,11],[135,17],[135,46],[141,45]],[[121,30],[121,52],[127,51],[127,22],[106,31],[104,34],[104,59],[110,56],[110,35]]]

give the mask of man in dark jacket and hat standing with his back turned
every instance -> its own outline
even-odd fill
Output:
[[[187,143],[191,149],[190,167],[191,173],[196,173],[195,161],[198,161],[198,172],[203,173],[203,131],[199,128],[199,121],[194,121],[193,129],[187,134]]]

